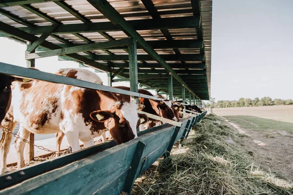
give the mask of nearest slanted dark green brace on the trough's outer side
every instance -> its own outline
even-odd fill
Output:
[[[142,162],[144,158],[143,153],[145,151],[145,148],[146,148],[146,143],[139,141],[134,153],[132,163],[131,163],[131,169],[128,172],[125,185],[123,188],[123,192],[126,192],[128,195],[130,195],[131,193],[135,179],[139,176],[140,167],[142,166]]]

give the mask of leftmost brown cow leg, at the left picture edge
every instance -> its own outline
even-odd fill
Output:
[[[4,118],[2,121],[2,126],[4,128],[7,128],[9,131],[13,132],[17,122],[13,122],[13,119],[10,120],[10,118]],[[2,129],[2,127],[1,127]],[[7,166],[6,166],[6,159],[9,152],[10,144],[12,140],[12,134],[4,131],[2,129],[2,138],[0,140],[0,150],[1,150],[1,166],[0,166],[0,174],[8,172]]]

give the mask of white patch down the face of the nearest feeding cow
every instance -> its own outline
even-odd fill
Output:
[[[137,137],[136,125],[137,125],[137,121],[139,120],[139,117],[136,112],[137,109],[138,109],[138,105],[134,103],[133,101],[124,102],[122,108],[120,109],[121,113],[123,114],[123,117],[125,117],[125,119],[128,120],[129,122],[131,130],[134,134],[134,138]]]

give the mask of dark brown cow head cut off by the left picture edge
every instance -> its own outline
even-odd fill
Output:
[[[0,122],[5,117],[11,103],[11,82],[13,77],[0,74]]]

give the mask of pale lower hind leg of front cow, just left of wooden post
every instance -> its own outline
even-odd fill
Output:
[[[31,133],[27,129],[25,129],[22,125],[20,126],[18,135],[21,138],[27,140],[30,134]],[[17,137],[15,138],[14,142],[15,142],[14,147],[17,152],[17,168],[20,169],[22,167],[25,167],[24,158],[23,158],[23,150],[24,150],[25,142]]]

